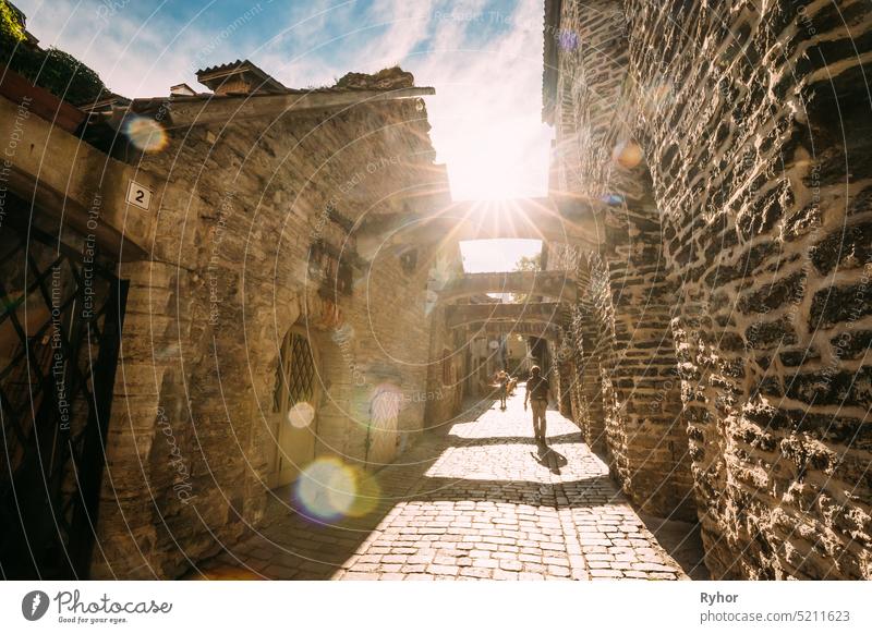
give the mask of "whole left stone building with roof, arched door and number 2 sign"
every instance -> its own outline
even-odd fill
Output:
[[[268,491],[316,455],[378,468],[422,431],[420,394],[439,391],[434,424],[459,403],[457,381],[420,363],[446,354],[448,378],[461,374],[427,301],[457,273],[457,251],[356,239],[446,204],[421,100],[432,89],[398,71],[292,90],[247,61],[198,77],[208,92],[99,103],[85,133],[96,147],[31,112],[51,96],[4,84],[26,118],[7,100],[10,124],[52,166],[45,175],[39,157],[16,157],[10,198],[24,209],[33,193],[65,192],[62,239],[108,254],[123,280],[95,576],[175,576],[256,525]],[[43,218],[63,205],[45,198],[33,224],[51,234]],[[8,293],[22,275],[10,272]],[[92,292],[82,277],[66,283],[73,303]],[[24,334],[41,334],[32,320]]]

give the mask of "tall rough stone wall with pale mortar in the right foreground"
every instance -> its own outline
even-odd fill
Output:
[[[579,154],[608,193],[633,176],[658,220],[681,380],[664,407],[683,410],[708,569],[872,577],[869,4],[562,4],[582,49],[594,5],[622,12],[626,72],[601,93],[642,160]],[[558,111],[602,130],[583,106]]]

